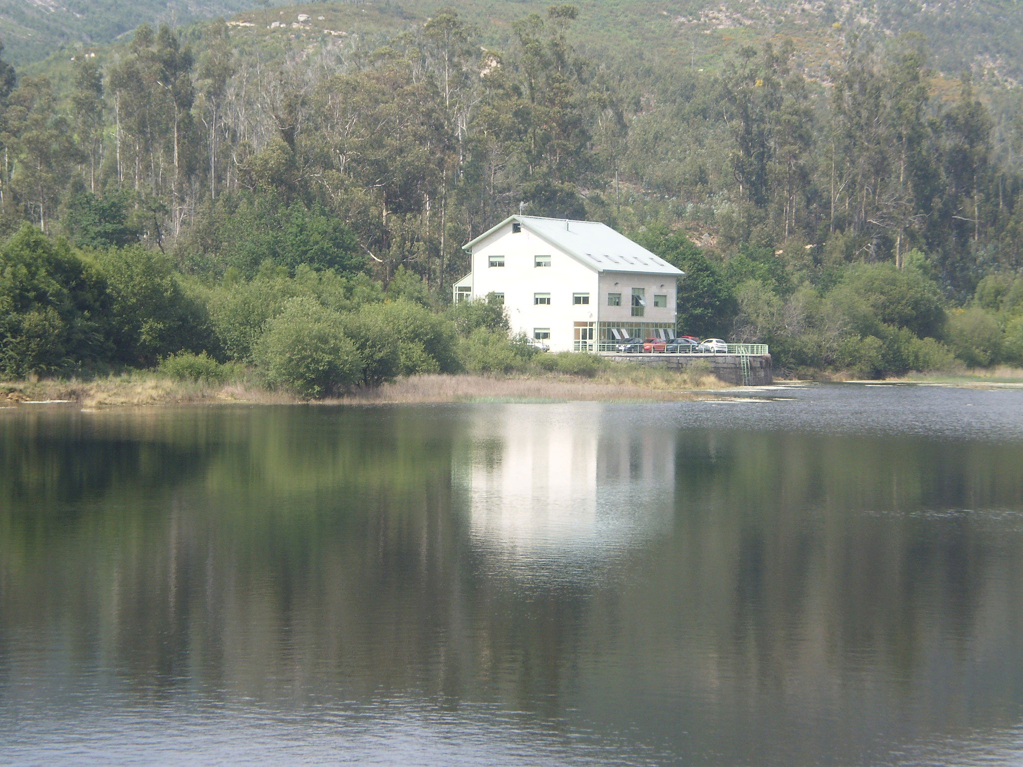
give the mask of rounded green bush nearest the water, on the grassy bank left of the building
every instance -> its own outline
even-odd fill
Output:
[[[362,379],[362,358],[342,330],[338,312],[312,299],[293,299],[267,322],[253,357],[267,384],[317,399]]]

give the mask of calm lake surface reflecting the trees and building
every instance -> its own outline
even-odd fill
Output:
[[[1023,391],[0,410],[0,764],[1023,764]]]

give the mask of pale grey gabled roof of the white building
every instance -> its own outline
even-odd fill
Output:
[[[685,276],[685,272],[651,253],[642,245],[619,234],[598,221],[545,219],[539,216],[508,216],[462,247],[473,245],[496,232],[502,226],[518,222],[536,236],[564,251],[597,272],[639,272]]]

